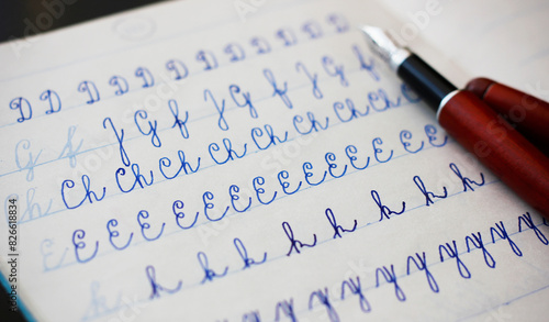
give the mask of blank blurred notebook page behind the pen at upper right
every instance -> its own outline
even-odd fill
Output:
[[[549,27],[547,1],[444,0],[436,14],[426,18],[423,12],[428,2],[383,4],[401,22],[395,31],[417,25],[417,33],[411,31],[401,40],[450,80],[464,87],[472,77],[490,76],[549,100],[548,80],[541,71],[549,68],[549,44],[539,36]]]

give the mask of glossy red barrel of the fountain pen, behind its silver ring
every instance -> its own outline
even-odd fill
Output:
[[[448,134],[549,219],[549,159],[471,92],[458,92],[440,109]]]

